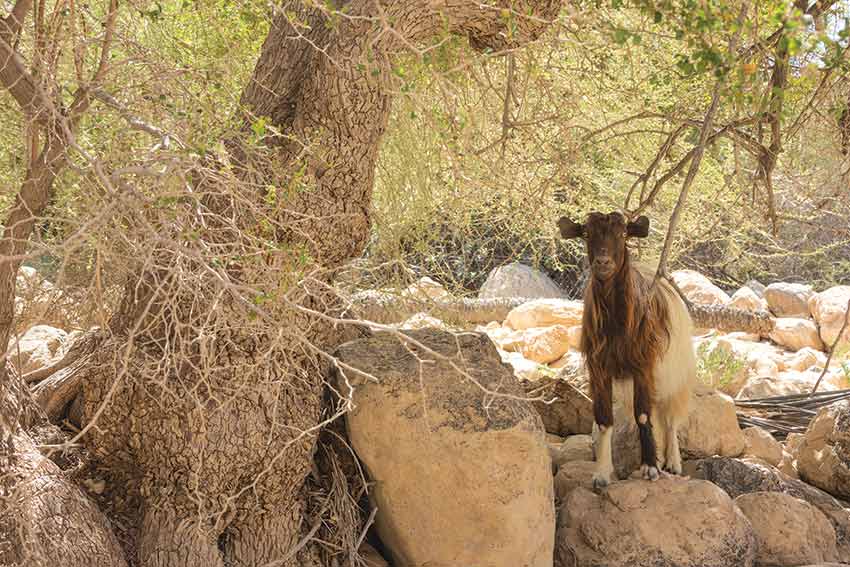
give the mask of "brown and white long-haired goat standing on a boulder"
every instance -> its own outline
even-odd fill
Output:
[[[626,241],[646,237],[649,219],[595,212],[585,224],[563,217],[558,227],[563,238],[584,238],[590,261],[581,350],[600,431],[593,485],[607,485],[614,472],[614,381],[633,383],[643,477],[657,479],[659,468],[681,474],[676,432],[696,381],[692,323],[676,291],[661,279],[653,285],[654,274],[629,260]]]

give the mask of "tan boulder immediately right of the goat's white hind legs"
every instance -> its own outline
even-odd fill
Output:
[[[720,392],[698,387],[691,400],[688,421],[679,430],[682,451],[692,457],[735,457],[747,446],[738,425],[735,402]]]

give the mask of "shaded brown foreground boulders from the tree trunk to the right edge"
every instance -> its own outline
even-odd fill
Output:
[[[800,567],[850,557],[850,509],[827,492],[850,496],[850,404],[781,444],[741,431],[731,398],[702,390],[683,432],[690,479],[626,479],[597,494],[592,437],[574,432],[586,422],[538,415],[488,339],[408,336],[404,345],[377,333],[337,352],[339,387],[353,387],[349,437],[394,564]],[[583,387],[537,384],[561,396]],[[817,479],[825,490],[782,472],[788,459],[801,476],[810,462],[829,468]]]

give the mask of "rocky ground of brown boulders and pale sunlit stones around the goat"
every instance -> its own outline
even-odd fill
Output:
[[[536,299],[475,333],[423,312],[341,347],[334,379],[352,393],[347,431],[374,483],[380,542],[364,543],[367,565],[850,564],[850,402],[781,440],[742,430],[734,402],[806,393],[821,375],[819,390],[850,387],[850,331],[838,339],[850,286],[751,282],[730,295],[696,272],[673,276],[692,302],[769,310],[776,323],[766,337],[694,330],[702,385],[680,432],[686,476],[655,483],[631,478],[637,436],[618,403],[622,480],[592,491],[582,303],[530,268],[491,274],[483,297]],[[401,293],[448,296],[427,278]],[[410,331],[406,344],[393,329]],[[78,334],[30,325],[8,356],[37,389]]]

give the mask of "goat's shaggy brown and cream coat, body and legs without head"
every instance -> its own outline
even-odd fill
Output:
[[[591,377],[597,425],[613,425],[611,381],[633,381],[634,401],[624,400],[625,405],[634,409],[639,426],[642,413],[652,417],[656,466],[681,473],[677,430],[688,416],[696,382],[693,325],[676,291],[663,279],[654,285],[653,280],[652,271],[630,265],[628,255],[613,281],[592,280],[585,291],[581,350]],[[610,434],[603,431],[601,445],[610,444],[606,438]],[[644,439],[641,448],[647,450]],[[600,477],[610,477],[610,458],[610,449],[601,447]],[[645,456],[642,461],[653,466]]]

